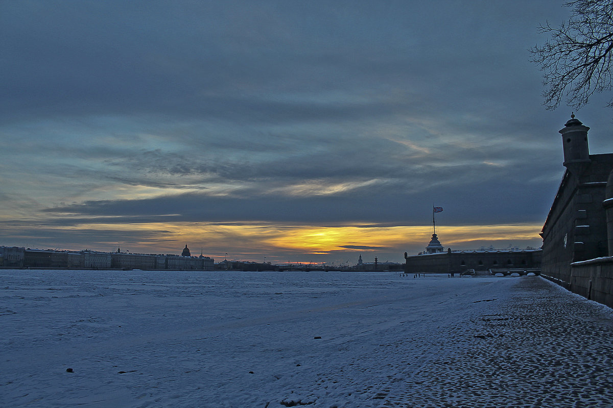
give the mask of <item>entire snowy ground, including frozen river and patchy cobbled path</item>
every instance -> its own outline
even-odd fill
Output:
[[[0,276],[0,406],[613,404],[611,310],[537,276]]]

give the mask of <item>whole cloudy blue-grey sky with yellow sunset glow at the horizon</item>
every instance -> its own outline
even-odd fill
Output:
[[[0,1],[0,245],[403,262],[540,247],[563,1]],[[613,152],[608,95],[576,112]]]

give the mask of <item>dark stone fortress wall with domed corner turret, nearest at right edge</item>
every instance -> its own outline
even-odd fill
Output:
[[[588,130],[573,114],[559,132],[566,171],[541,231],[543,276],[611,306],[613,154],[590,154]]]

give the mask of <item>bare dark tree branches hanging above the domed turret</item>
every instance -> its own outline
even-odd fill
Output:
[[[613,0],[574,0],[571,17],[559,28],[539,26],[549,34],[543,46],[530,49],[530,61],[544,72],[543,105],[552,110],[565,99],[575,109],[596,93],[613,89]],[[613,108],[613,98],[607,104]]]

